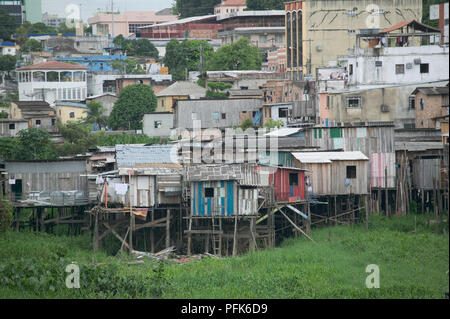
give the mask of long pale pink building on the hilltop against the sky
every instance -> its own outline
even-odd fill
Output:
[[[116,37],[121,34],[124,37],[132,37],[136,35],[139,27],[175,21],[177,19],[178,16],[166,15],[161,11],[125,11],[123,14],[114,13],[114,19],[111,13],[98,12],[94,17],[89,18],[88,22],[92,25],[93,35],[111,34],[113,37]]]

